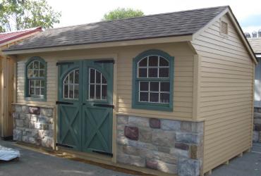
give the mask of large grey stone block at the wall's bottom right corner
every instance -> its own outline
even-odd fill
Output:
[[[200,161],[192,160],[189,158],[178,158],[178,175],[200,175]]]

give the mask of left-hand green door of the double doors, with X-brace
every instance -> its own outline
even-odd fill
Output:
[[[71,146],[73,149],[80,150],[82,135],[82,92],[80,89],[78,98],[74,95],[74,83],[75,80],[77,80],[75,79],[75,72],[77,71],[81,71],[79,61],[59,65],[58,142],[59,144]],[[74,74],[73,79],[71,73]],[[78,78],[78,84],[81,84],[81,75],[79,75]],[[70,88],[65,89],[65,87],[73,87],[73,91],[71,91]]]

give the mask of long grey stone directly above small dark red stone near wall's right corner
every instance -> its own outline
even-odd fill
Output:
[[[202,134],[176,132],[176,142],[200,144],[202,142]]]

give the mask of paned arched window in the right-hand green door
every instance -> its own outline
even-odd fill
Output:
[[[89,97],[90,100],[107,100],[107,80],[98,70],[89,69]]]

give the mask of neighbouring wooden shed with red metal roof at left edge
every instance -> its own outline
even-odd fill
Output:
[[[2,50],[23,39],[40,32],[41,27],[27,30],[0,33],[0,137],[4,139],[13,136],[13,117],[11,103],[13,102],[14,61],[3,54]]]

